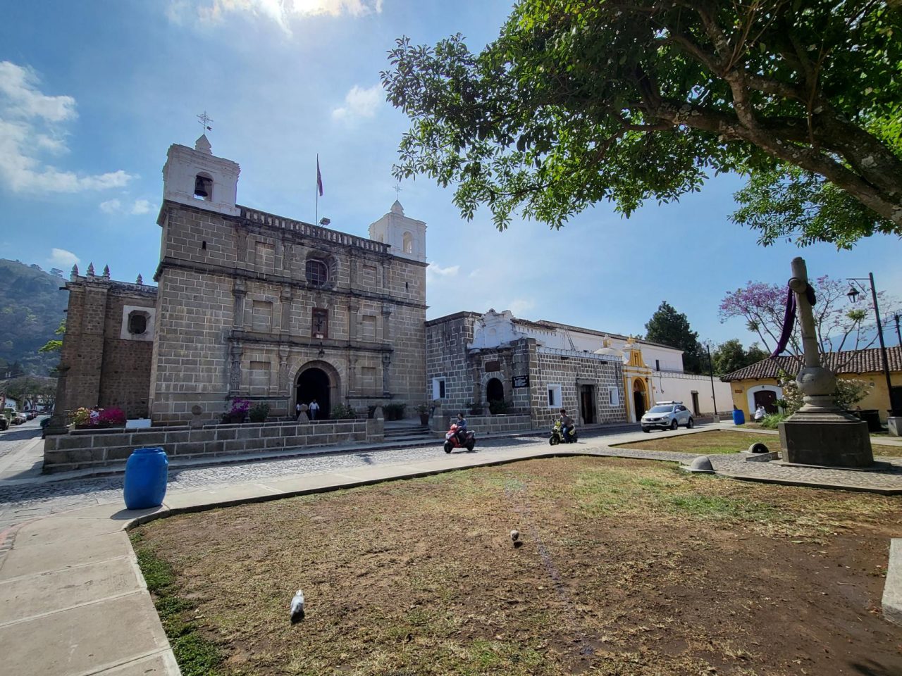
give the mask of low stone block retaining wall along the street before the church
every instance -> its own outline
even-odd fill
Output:
[[[73,430],[47,437],[43,470],[55,473],[124,466],[134,449],[146,446],[161,446],[172,461],[383,440],[381,419]]]

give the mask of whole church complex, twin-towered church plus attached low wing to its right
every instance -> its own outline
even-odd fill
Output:
[[[73,269],[60,418],[98,405],[179,425],[199,407],[213,422],[235,398],[271,418],[313,399],[320,418],[337,405],[500,407],[534,428],[560,407],[580,425],[636,422],[659,398],[716,409],[713,379],[709,397],[666,345],[494,310],[426,321],[426,224],[400,202],[357,237],[238,205],[238,174],[205,135],[173,144],[157,287]]]

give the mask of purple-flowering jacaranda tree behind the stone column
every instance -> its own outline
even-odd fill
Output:
[[[864,302],[859,306],[850,306],[846,298],[849,282],[844,279],[824,275],[811,283],[817,299],[812,312],[815,315],[817,342],[822,352],[861,350],[875,343],[877,333],[870,294],[862,294]],[[877,297],[884,312],[893,312],[898,306],[884,291],[879,291]],[[721,322],[732,317],[745,319],[749,331],[758,335],[765,349],[772,352],[782,332],[786,301],[786,287],[750,281],[745,287],[723,297],[719,315]],[[801,327],[797,321],[787,351],[802,354]]]

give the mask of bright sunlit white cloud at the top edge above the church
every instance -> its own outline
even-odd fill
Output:
[[[184,0],[172,0],[167,16],[174,23],[183,23],[187,12]],[[198,7],[201,23],[217,23],[226,14],[245,13],[276,23],[282,31],[291,34],[290,22],[305,16],[364,16],[380,14],[382,0],[213,0]]]

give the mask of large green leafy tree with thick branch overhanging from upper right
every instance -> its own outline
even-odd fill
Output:
[[[900,14],[876,0],[522,0],[478,54],[459,34],[402,37],[382,72],[411,120],[394,175],[454,183],[462,215],[487,205],[503,229],[518,210],[559,228],[602,200],[630,215],[711,170],[758,178],[747,204],[770,214],[756,195],[797,174],[804,213],[737,215],[761,242],[900,234]],[[822,214],[839,196],[851,221]]]

